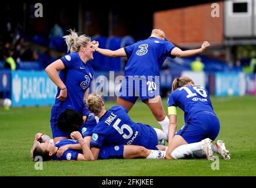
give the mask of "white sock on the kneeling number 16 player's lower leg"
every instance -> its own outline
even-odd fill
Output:
[[[174,159],[182,159],[191,155],[194,151],[201,150],[203,142],[189,143],[187,145],[181,145],[171,152],[171,156]]]

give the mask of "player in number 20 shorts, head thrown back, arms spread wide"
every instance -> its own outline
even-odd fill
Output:
[[[140,96],[142,102],[151,109],[164,132],[168,134],[169,119],[165,115],[159,96],[159,69],[168,56],[171,58],[194,56],[204,52],[210,43],[204,41],[199,49],[182,51],[165,38],[164,31],[153,29],[148,39],[116,51],[98,48],[98,42],[94,42],[93,45],[95,51],[102,55],[112,58],[127,56],[128,58],[124,69],[125,79],[122,80],[117,104],[129,112]]]

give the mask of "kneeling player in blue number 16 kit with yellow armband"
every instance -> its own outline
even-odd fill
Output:
[[[184,111],[185,125],[175,134],[177,106]],[[168,99],[168,115],[167,159],[180,159],[190,155],[191,151],[202,149],[204,142],[210,145],[220,132],[220,121],[212,108],[207,90],[201,86],[195,86],[193,80],[186,76],[176,78],[172,82],[172,93]],[[204,142],[200,142],[203,139]],[[230,159],[230,154],[222,140],[218,140],[213,147],[209,147],[205,153],[207,159],[211,160],[212,150],[224,159]]]

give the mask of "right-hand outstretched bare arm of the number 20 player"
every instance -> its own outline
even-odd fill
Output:
[[[178,47],[175,47],[174,49],[172,49],[171,55],[172,56],[178,56],[179,58],[187,58],[187,57],[190,57],[190,56],[197,55],[198,53],[204,52],[209,46],[210,46],[210,43],[207,42],[207,41],[204,41],[202,43],[201,48],[198,48],[198,49],[191,49],[191,50],[187,50],[187,51],[182,51]]]

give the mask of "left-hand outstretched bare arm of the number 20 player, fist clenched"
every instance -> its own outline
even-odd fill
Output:
[[[97,41],[92,41],[92,46],[96,52],[101,53],[101,55],[108,56],[110,58],[126,57],[127,54],[124,48],[119,48],[116,51],[111,51],[110,49],[99,48],[99,43]]]

